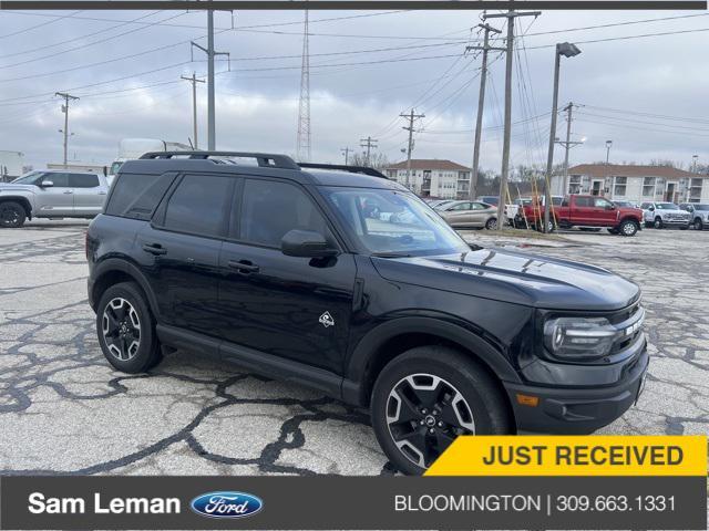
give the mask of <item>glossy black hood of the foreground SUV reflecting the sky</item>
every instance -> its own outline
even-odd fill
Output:
[[[372,261],[387,280],[540,309],[613,311],[640,295],[605,269],[508,250]]]

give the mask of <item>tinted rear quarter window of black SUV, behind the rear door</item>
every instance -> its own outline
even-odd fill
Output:
[[[174,179],[174,174],[120,174],[111,187],[105,214],[148,220]]]

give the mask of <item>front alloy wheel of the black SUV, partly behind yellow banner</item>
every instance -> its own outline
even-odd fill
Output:
[[[467,400],[450,382],[432,374],[400,379],[386,407],[394,445],[421,468],[431,466],[459,435],[475,433]]]

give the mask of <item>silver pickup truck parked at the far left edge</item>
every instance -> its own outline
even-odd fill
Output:
[[[109,185],[103,175],[66,169],[30,171],[0,184],[0,227],[22,227],[32,218],[93,218]]]

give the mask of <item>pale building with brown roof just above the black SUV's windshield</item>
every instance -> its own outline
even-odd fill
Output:
[[[421,197],[440,199],[467,198],[471,168],[445,159],[411,159],[411,176],[407,183],[407,162],[384,168],[384,175]]]

